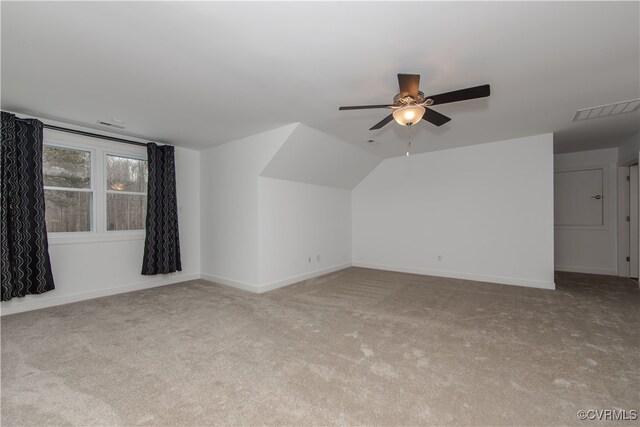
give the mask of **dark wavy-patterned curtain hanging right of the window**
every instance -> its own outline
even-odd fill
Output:
[[[149,182],[142,274],[182,271],[174,148],[149,143],[147,154]]]

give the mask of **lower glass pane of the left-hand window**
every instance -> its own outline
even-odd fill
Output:
[[[90,191],[44,190],[47,232],[91,231]]]

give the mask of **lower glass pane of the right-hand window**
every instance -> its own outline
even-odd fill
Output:
[[[107,230],[144,230],[147,196],[107,193]]]

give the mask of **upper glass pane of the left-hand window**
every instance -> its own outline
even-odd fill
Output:
[[[91,188],[89,151],[44,146],[44,185],[65,188]]]

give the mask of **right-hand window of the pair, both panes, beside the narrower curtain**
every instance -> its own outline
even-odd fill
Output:
[[[143,230],[147,214],[147,162],[107,155],[107,230]]]

